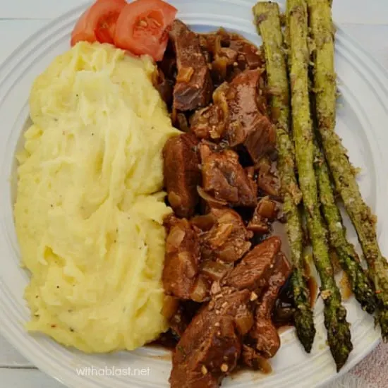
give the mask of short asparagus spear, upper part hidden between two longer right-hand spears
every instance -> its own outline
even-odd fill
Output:
[[[329,169],[319,147],[315,149],[315,171],[317,174],[320,202],[329,228],[330,244],[337,252],[339,264],[348,275],[354,296],[363,309],[372,314],[376,308],[375,292],[370,279],[360,265],[356,250],[346,240],[346,230],[342,222],[341,213],[335,202]]]

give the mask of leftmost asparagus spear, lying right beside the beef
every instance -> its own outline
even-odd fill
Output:
[[[293,264],[291,284],[296,305],[294,321],[296,334],[305,351],[310,353],[315,337],[315,327],[310,305],[310,291],[305,277],[305,262],[302,255],[303,229],[298,209],[298,205],[301,203],[301,191],[296,181],[293,145],[289,138],[289,82],[279,6],[276,3],[260,2],[253,7],[253,14],[265,49],[268,86],[270,89],[277,90],[276,95],[272,96],[271,107],[272,116],[277,116],[278,171]]]

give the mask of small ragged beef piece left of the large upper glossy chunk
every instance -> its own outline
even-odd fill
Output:
[[[190,131],[198,139],[219,141],[225,131],[224,111],[217,104],[199,109],[190,119]]]

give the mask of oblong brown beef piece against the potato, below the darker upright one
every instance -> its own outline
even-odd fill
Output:
[[[166,253],[162,274],[167,294],[189,299],[197,281],[200,263],[200,239],[187,219],[171,226],[166,238]]]

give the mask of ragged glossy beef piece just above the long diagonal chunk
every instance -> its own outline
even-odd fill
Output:
[[[212,209],[216,222],[210,231],[201,236],[203,260],[235,262],[250,250],[253,233],[245,228],[243,219],[234,210]]]

